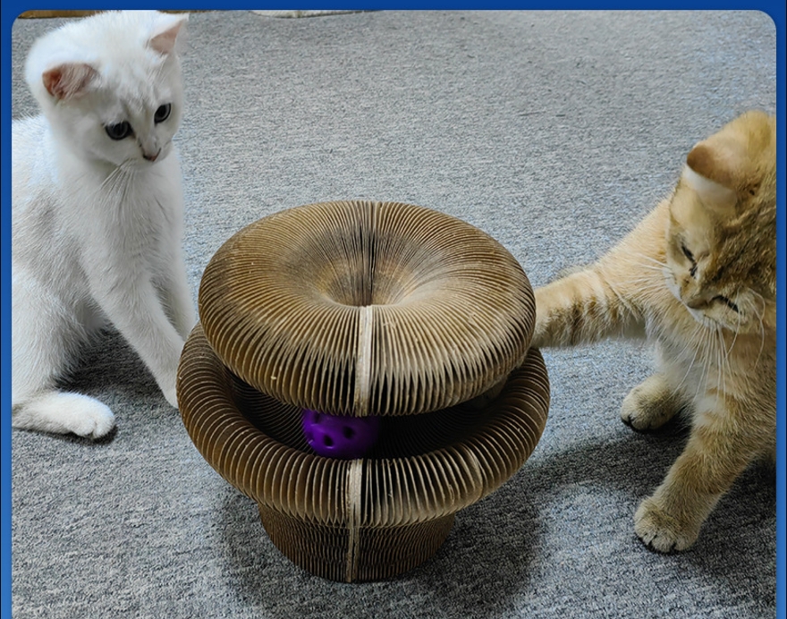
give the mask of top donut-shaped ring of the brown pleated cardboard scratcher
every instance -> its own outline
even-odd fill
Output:
[[[231,237],[199,288],[224,364],[284,403],[344,415],[435,411],[527,352],[535,301],[486,233],[396,202],[324,202]]]

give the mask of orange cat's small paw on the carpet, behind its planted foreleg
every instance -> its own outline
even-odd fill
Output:
[[[664,374],[654,374],[635,386],[621,404],[623,423],[639,431],[661,428],[683,408]]]

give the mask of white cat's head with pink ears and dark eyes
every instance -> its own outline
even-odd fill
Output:
[[[182,116],[175,44],[187,19],[156,11],[97,13],[36,41],[25,77],[64,148],[125,166],[169,155]]]

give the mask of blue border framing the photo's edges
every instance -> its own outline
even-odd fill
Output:
[[[195,5],[196,4],[196,5]],[[200,6],[200,4],[205,4]],[[259,3],[254,5],[246,5],[244,3],[232,3],[231,7],[224,6],[223,9],[292,9],[293,3],[282,3],[281,0],[275,3],[264,3],[267,6],[260,6]],[[305,4],[305,6],[304,6]],[[303,3],[300,8],[308,8],[310,3]],[[330,3],[320,3],[313,8],[326,8],[326,4],[330,8],[342,8],[341,4],[336,5]],[[379,6],[378,2],[365,3],[363,6],[366,9],[372,8],[391,8],[391,5]],[[397,6],[397,8],[419,8],[419,9],[447,9],[457,8],[457,4],[438,2],[430,6],[414,6],[407,5]],[[472,5],[465,4],[464,0],[460,2],[461,8],[478,8]],[[63,3],[57,0],[50,1],[45,4],[47,10],[73,9],[73,4]],[[186,4],[180,1],[166,3],[165,7],[161,5],[150,5],[148,2],[141,2],[140,0],[131,0],[131,2],[121,3],[123,8],[166,8],[178,10],[195,10],[195,9],[209,9],[210,4],[206,4],[205,0],[199,0],[197,3]],[[13,21],[23,11],[29,10],[30,4],[22,3],[18,0],[9,0],[2,5],[2,19],[0,19],[0,26],[2,26],[2,37],[0,37],[0,44],[2,44],[2,117],[0,117],[0,135],[2,135],[2,208],[0,208],[0,256],[2,256],[2,269],[0,269],[0,299],[2,299],[2,309],[0,309],[0,379],[2,379],[2,389],[0,389],[0,411],[2,411],[2,424],[0,424],[0,464],[2,464],[2,476],[0,476],[0,486],[2,486],[2,502],[0,502],[0,568],[2,568],[2,583],[0,583],[0,599],[2,599],[2,606],[0,606],[0,616],[11,616],[11,139],[9,137],[11,127],[11,28]],[[118,8],[117,3],[107,2],[93,2],[89,4],[90,9],[109,9]],[[356,7],[357,8],[357,7]],[[778,376],[785,376],[785,325],[784,325],[784,301],[785,301],[785,288],[787,288],[787,259],[785,256],[785,134],[784,134],[784,119],[787,117],[785,114],[785,58],[787,58],[787,51],[785,51],[785,13],[787,9],[784,6],[784,0],[757,0],[752,4],[745,4],[740,0],[719,0],[717,2],[709,2],[709,0],[694,0],[693,2],[658,2],[653,1],[645,4],[632,4],[630,2],[623,2],[622,0],[608,0],[606,3],[598,4],[594,2],[574,1],[563,2],[561,4],[546,4],[545,0],[539,2],[497,2],[492,6],[485,6],[481,8],[486,9],[550,9],[550,10],[570,10],[570,9],[637,9],[637,10],[686,10],[686,9],[712,9],[712,10],[760,10],[770,15],[776,26],[776,114],[779,119],[777,123],[777,136],[778,136],[778,149],[777,157],[779,161],[778,176],[777,176],[777,200],[778,200],[778,213],[776,217],[777,225],[777,248],[778,248],[778,264],[777,264],[777,309],[778,309],[778,339],[776,344],[776,359],[777,368],[779,369]],[[787,536],[785,536],[785,478],[787,478],[787,471],[785,471],[785,436],[787,436],[787,419],[785,419],[785,391],[784,382],[779,382],[776,387],[776,408],[778,413],[778,428],[777,428],[777,454],[778,464],[776,471],[776,616],[783,618],[785,611],[787,611],[787,600],[785,600],[785,581],[787,581],[787,572],[785,572],[785,554],[784,546],[787,543]]]

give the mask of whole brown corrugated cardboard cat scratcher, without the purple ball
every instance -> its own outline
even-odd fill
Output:
[[[327,579],[426,561],[546,423],[527,276],[434,210],[346,201],[264,217],[210,260],[199,314],[178,372],[190,437],[257,502],[275,546]],[[377,442],[318,455],[303,409],[377,416]]]

